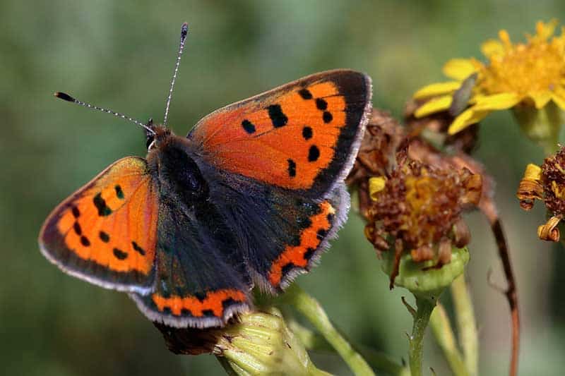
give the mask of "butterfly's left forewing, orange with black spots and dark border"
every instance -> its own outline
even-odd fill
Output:
[[[75,277],[148,293],[154,281],[157,200],[145,159],[120,159],[49,215],[40,249]]]

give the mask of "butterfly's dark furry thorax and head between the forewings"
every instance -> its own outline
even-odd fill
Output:
[[[208,183],[192,157],[191,141],[172,134],[168,129],[166,133],[157,129],[155,146],[149,150],[147,161],[159,186],[160,199],[194,207],[208,198],[209,191]]]

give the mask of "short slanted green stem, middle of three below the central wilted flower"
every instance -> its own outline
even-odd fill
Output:
[[[429,326],[432,327],[434,338],[441,348],[441,351],[444,352],[444,356],[449,364],[449,368],[451,368],[451,372],[453,372],[453,375],[469,375],[465,368],[463,356],[461,356],[461,353],[457,348],[453,329],[451,329],[451,324],[443,305],[437,305],[429,320]]]

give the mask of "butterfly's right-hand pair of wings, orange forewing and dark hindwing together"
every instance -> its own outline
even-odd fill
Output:
[[[263,289],[307,271],[345,222],[343,180],[370,109],[367,75],[328,71],[219,109],[189,133],[219,171],[211,201]]]

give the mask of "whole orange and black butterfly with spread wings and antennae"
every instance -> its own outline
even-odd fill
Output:
[[[150,320],[221,327],[251,310],[254,286],[283,291],[328,248],[370,109],[371,79],[345,69],[218,109],[186,137],[100,109],[143,126],[147,156],[119,159],[57,206],[40,249],[74,277],[129,293]]]

